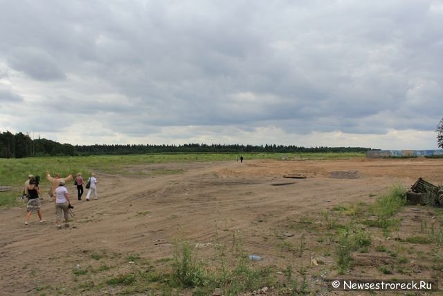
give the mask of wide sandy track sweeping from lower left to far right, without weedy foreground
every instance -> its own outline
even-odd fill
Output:
[[[59,281],[69,287],[75,285],[73,268],[90,254],[141,254],[155,260],[172,256],[174,238],[208,243],[217,236],[227,243],[236,231],[246,250],[264,256],[264,265],[278,265],[275,241],[264,237],[344,202],[372,202],[392,184],[410,186],[418,177],[440,184],[442,164],[443,159],[140,164],[128,169],[129,175],[98,174],[99,200],[78,201],[74,186],[67,186],[75,206],[69,229],[55,229],[48,199],[42,203],[42,225],[36,214],[24,225],[24,204],[0,210],[0,288],[4,295],[24,295],[36,293],[36,286],[60,286]],[[183,173],[150,175],[155,168]],[[142,170],[148,173],[131,175]],[[330,177],[347,171],[359,177]],[[282,177],[287,173],[307,179]],[[42,185],[46,192],[48,184]]]

